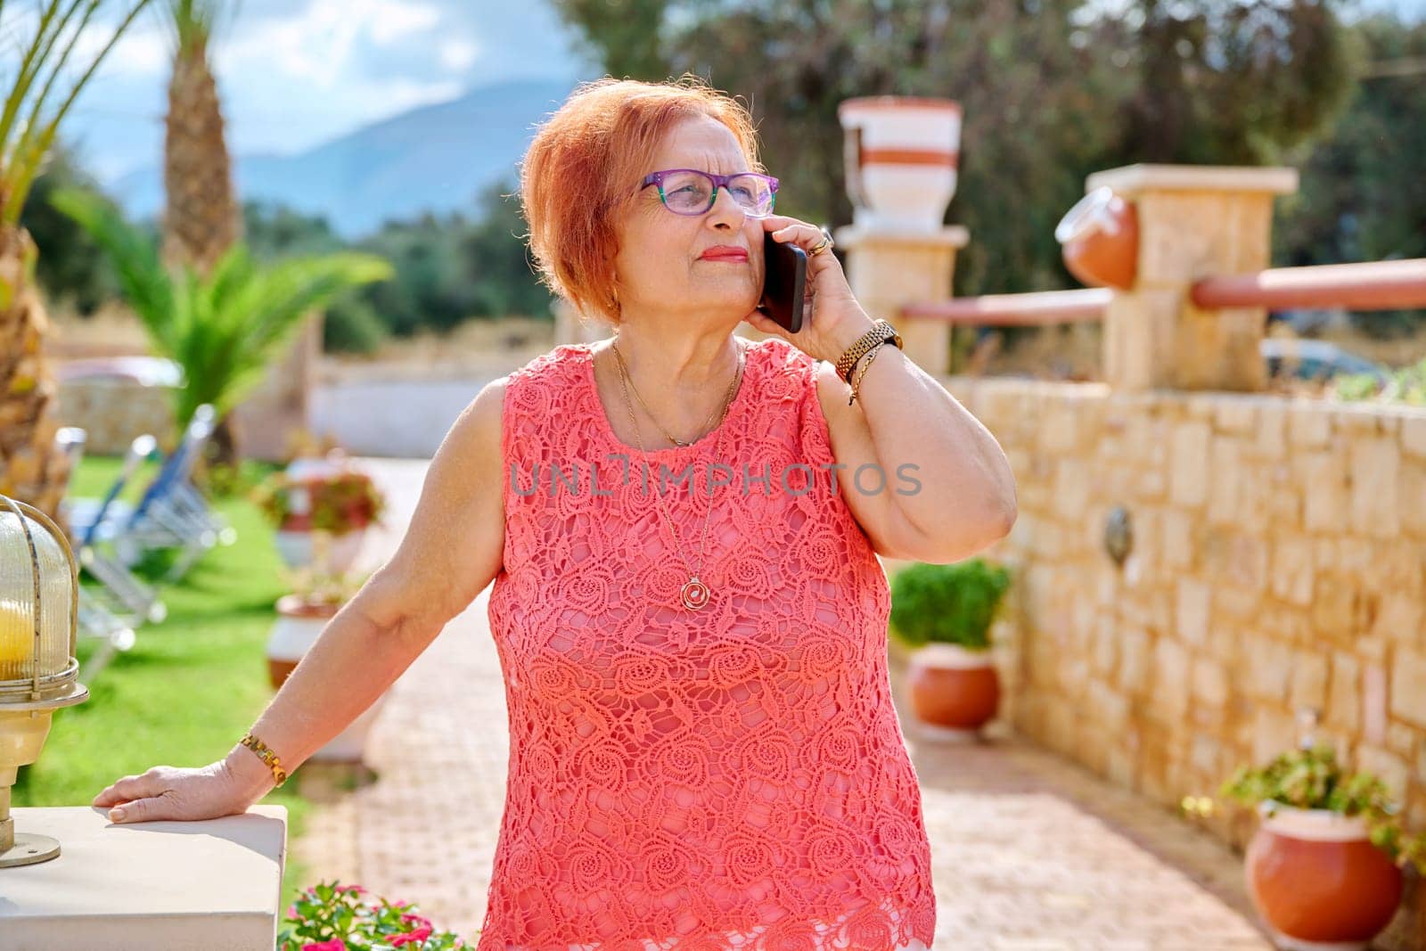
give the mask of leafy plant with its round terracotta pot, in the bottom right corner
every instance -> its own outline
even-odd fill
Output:
[[[1242,766],[1219,796],[1262,817],[1245,855],[1248,893],[1279,948],[1366,948],[1396,914],[1402,868],[1426,871],[1426,837],[1403,834],[1386,784],[1348,774],[1328,744]]]

